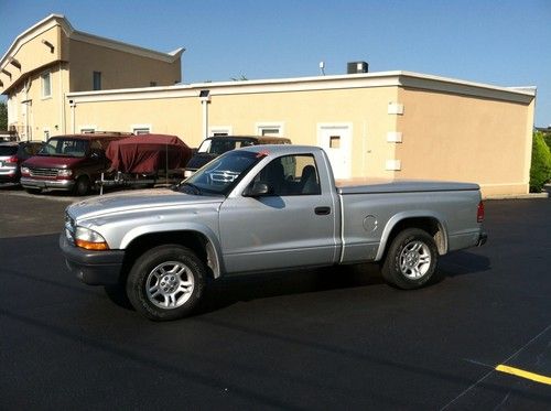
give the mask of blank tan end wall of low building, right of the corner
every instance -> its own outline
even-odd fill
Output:
[[[485,194],[528,192],[530,160],[525,154],[533,102],[419,89],[400,89],[399,99],[404,113],[398,119],[402,143],[396,144],[401,160],[397,176],[472,181]]]

